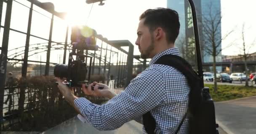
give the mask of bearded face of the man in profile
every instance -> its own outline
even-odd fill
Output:
[[[154,50],[154,38],[149,31],[149,27],[144,25],[144,20],[141,19],[137,30],[138,38],[135,42],[139,46],[139,52],[141,52],[141,58],[153,58],[152,51]]]

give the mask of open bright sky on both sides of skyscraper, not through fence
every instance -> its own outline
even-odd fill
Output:
[[[49,0],[40,0],[49,1]],[[136,30],[139,23],[139,15],[148,8],[167,6],[166,0],[105,0],[105,5],[98,3],[86,4],[85,0],[51,0],[55,4],[56,10],[68,12],[73,24],[85,24],[96,29],[109,40],[128,39],[135,45]],[[234,31],[227,39],[223,40],[222,54],[235,55],[243,51],[241,42],[241,30],[245,24],[245,44],[248,48],[251,44],[256,44],[256,0],[221,0],[222,36],[229,31]],[[88,18],[88,13],[91,14]],[[88,18],[88,21],[87,21]],[[233,44],[228,47],[229,44]],[[249,53],[256,52],[256,45],[250,47]],[[135,47],[135,54],[139,50]]]

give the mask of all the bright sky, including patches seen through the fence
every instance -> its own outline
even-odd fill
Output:
[[[27,0],[18,0],[26,1]],[[88,25],[89,27],[95,29],[98,34],[101,34],[103,37],[106,37],[108,40],[129,40],[134,47],[134,55],[139,55],[138,46],[135,45],[137,38],[136,31],[139,23],[139,16],[145,10],[149,8],[163,7],[166,8],[166,0],[105,0],[103,6],[99,6],[99,3],[86,4],[85,0],[39,0],[40,2],[52,2],[55,5],[55,10],[58,12],[67,12],[67,23],[70,25]],[[17,5],[17,4],[16,4]],[[221,0],[221,14],[223,16],[221,23],[221,32],[224,36],[229,31],[234,31],[226,40],[222,42],[222,48],[225,48],[222,51],[223,55],[237,55],[242,54],[241,47],[241,29],[243,23],[245,24],[245,44],[249,45],[256,44],[256,17],[253,13],[256,13],[256,0]],[[15,5],[14,5],[15,6]],[[30,6],[29,4],[27,6]],[[35,7],[34,7],[35,8]],[[13,8],[14,9],[14,8]],[[17,8],[15,8],[17,9]],[[91,13],[90,13],[91,10]],[[18,10],[13,10],[11,21],[11,26],[14,29],[20,31],[27,31],[27,19],[20,19],[15,17],[17,15],[25,15],[24,17],[28,18],[28,8],[22,8]],[[90,13],[90,15],[89,15]],[[4,14],[4,12],[3,12]],[[45,14],[47,14],[45,12]],[[33,14],[36,16],[36,14]],[[32,18],[34,17],[32,16]],[[47,16],[51,17],[48,13]],[[3,18],[3,17],[2,17]],[[16,19],[14,19],[16,18]],[[36,22],[32,22],[32,30],[34,28],[39,28],[40,30],[32,31],[32,34],[41,34],[45,39],[48,39],[49,29],[41,26],[42,24],[49,26],[49,18],[45,20],[34,19]],[[3,21],[3,19],[2,19]],[[17,23],[19,22],[19,23]],[[63,29],[65,24],[55,23],[55,26],[59,26],[62,29],[53,29],[53,38],[63,37],[66,29]],[[3,24],[2,24],[3,25]],[[24,25],[24,26],[19,26]],[[0,31],[1,34],[3,30]],[[16,33],[10,33],[10,36],[15,36],[15,40],[11,40],[11,45],[9,45],[9,50],[19,46],[24,46],[26,36],[18,36]],[[38,43],[37,40],[32,43]],[[45,42],[45,41],[41,41]],[[226,48],[230,43],[234,45]],[[10,44],[10,42],[9,42]],[[256,52],[256,45],[251,47],[249,53]],[[43,57],[43,56],[42,56]],[[34,57],[30,57],[34,58]],[[38,56],[37,59],[38,60]],[[44,58],[44,57],[43,57]],[[51,58],[56,58],[52,57]],[[54,61],[50,60],[50,61]],[[42,59],[45,61],[45,59]]]

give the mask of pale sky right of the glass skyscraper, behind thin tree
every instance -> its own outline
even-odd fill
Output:
[[[245,24],[245,44],[247,53],[256,52],[256,0],[221,0],[221,32],[222,36],[234,30],[226,40],[222,41],[222,48],[234,42],[233,46],[224,49],[222,54],[237,55],[243,53],[242,26]],[[253,46],[251,44],[254,44]],[[252,46],[252,47],[251,47]]]

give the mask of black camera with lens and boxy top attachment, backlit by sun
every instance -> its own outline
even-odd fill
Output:
[[[67,82],[64,82],[64,84],[69,87],[80,87],[82,84],[88,85],[93,57],[84,55],[84,51],[97,51],[99,49],[96,46],[96,31],[88,26],[72,27],[71,45],[72,52],[69,53],[68,64],[56,64],[53,71],[54,76],[67,78]],[[74,60],[73,56],[76,56],[76,60]],[[89,69],[86,63],[87,58],[90,58]],[[87,73],[88,78],[86,78]]]

